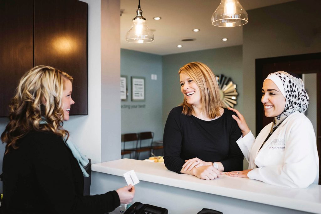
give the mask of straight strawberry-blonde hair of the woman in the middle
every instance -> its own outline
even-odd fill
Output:
[[[219,117],[221,115],[222,102],[220,99],[220,89],[212,70],[202,62],[190,62],[181,67],[178,74],[189,76],[200,89],[201,112],[210,119]],[[185,98],[181,105],[183,106],[182,114],[188,116],[193,114],[192,105],[188,104]]]

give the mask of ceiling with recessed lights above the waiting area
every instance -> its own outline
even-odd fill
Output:
[[[241,0],[245,10],[281,4],[293,0]],[[222,28],[213,26],[211,17],[220,0],[141,0],[143,17],[150,29],[155,30],[152,43],[132,44],[126,42],[126,33],[136,16],[138,0],[121,0],[123,10],[120,18],[121,48],[151,54],[175,54],[211,48],[242,45],[242,26]],[[160,16],[155,21],[153,17]],[[248,17],[251,22],[251,16]],[[199,32],[192,30],[198,28]],[[194,38],[192,42],[181,42],[184,38]],[[222,38],[229,40],[223,42]],[[177,45],[183,45],[178,48]]]

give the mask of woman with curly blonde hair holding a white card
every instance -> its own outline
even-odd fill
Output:
[[[3,207],[8,213],[103,213],[131,202],[134,187],[83,196],[82,155],[63,128],[74,104],[73,78],[36,66],[20,79],[11,100],[9,123],[1,135]]]

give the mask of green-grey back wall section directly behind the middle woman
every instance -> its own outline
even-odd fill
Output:
[[[163,126],[169,111],[183,101],[180,91],[178,70],[188,62],[203,62],[215,75],[224,74],[230,77],[239,92],[238,104],[235,106],[243,111],[243,71],[242,46],[232,46],[181,54],[170,54],[162,57],[163,65]]]

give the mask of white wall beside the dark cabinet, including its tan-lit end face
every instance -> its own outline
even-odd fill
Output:
[[[64,128],[92,163],[99,163],[120,159],[120,0],[83,1],[88,3],[88,116],[71,116]]]

